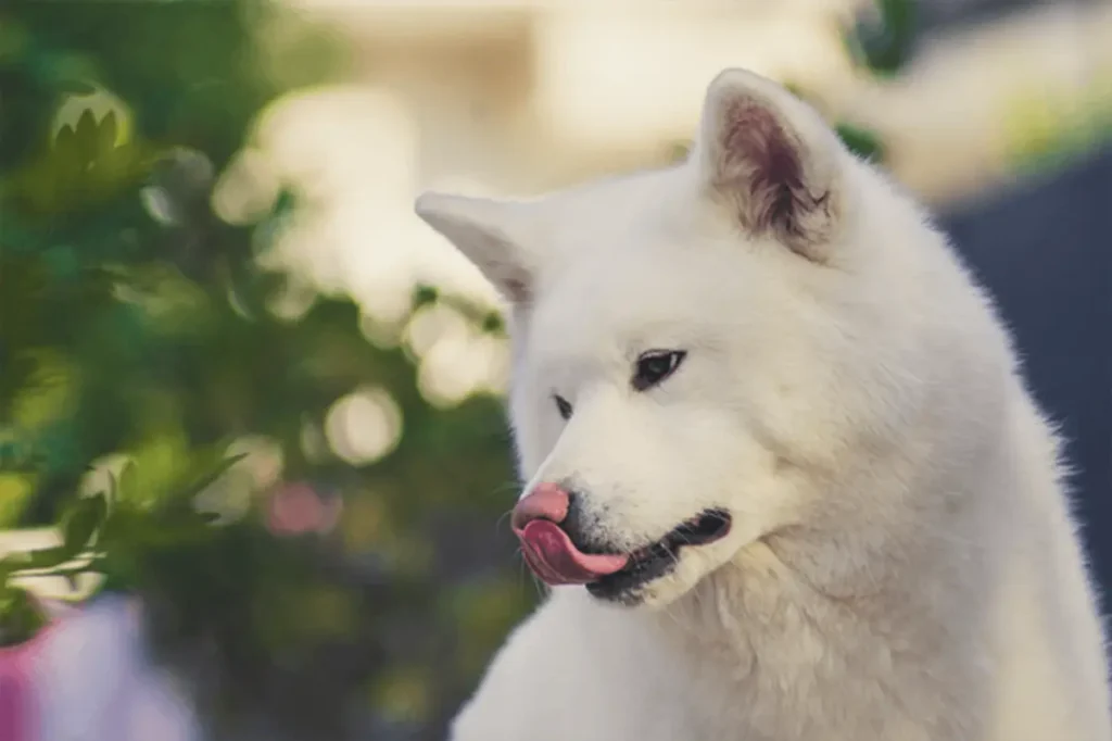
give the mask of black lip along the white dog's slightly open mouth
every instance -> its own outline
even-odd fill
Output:
[[[676,567],[676,554],[688,545],[713,543],[729,532],[729,513],[706,510],[683,523],[659,541],[634,552],[629,565],[619,572],[587,584],[587,591],[600,600],[636,604],[637,591]]]

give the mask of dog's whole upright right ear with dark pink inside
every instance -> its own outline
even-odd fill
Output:
[[[741,227],[822,261],[844,207],[845,151],[818,113],[741,69],[711,82],[693,165]]]

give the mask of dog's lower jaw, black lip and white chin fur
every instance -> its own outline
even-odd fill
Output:
[[[639,549],[622,571],[586,585],[597,600],[624,606],[664,607],[728,559],[731,516],[707,511]]]

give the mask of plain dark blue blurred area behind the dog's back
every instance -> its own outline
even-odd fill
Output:
[[[1112,594],[1112,150],[941,221],[1062,426],[1093,566]]]

